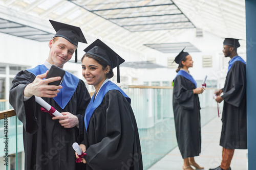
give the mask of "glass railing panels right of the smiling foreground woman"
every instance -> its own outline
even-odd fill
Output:
[[[132,108],[139,128],[143,168],[148,169],[177,147],[173,113],[173,89],[148,87],[123,88],[132,99]],[[213,99],[215,89],[199,94],[201,126],[218,116]]]

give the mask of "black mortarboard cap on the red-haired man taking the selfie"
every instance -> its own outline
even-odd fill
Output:
[[[78,41],[87,43],[86,38],[84,37],[82,30],[79,27],[71,26],[66,23],[61,23],[50,19],[49,21],[51,22],[52,27],[56,31],[54,37],[65,38],[76,47],[78,46]],[[77,62],[77,50],[75,51],[75,62]]]

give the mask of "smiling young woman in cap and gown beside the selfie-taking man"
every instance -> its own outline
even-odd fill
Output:
[[[76,157],[86,163],[87,170],[142,170],[131,99],[109,80],[114,76],[112,68],[119,67],[118,62],[124,60],[99,39],[84,51],[87,53],[82,57],[82,75],[96,91],[84,117],[86,132],[80,148],[86,155]]]

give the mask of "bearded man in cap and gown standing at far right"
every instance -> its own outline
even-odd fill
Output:
[[[210,170],[231,169],[234,149],[247,149],[245,61],[237,54],[238,39],[226,38],[223,45],[224,56],[231,60],[224,88],[216,92],[216,101],[224,101],[220,139],[222,161],[219,167]]]

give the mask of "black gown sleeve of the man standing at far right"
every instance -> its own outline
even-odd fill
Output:
[[[231,70],[229,70],[226,81],[222,99],[233,106],[240,106],[246,91],[245,64],[240,61],[234,62]]]

